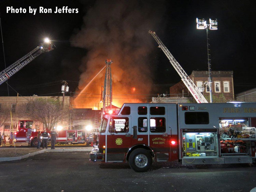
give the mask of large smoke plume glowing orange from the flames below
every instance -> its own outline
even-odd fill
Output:
[[[161,1],[95,1],[83,18],[81,30],[71,37],[72,46],[88,50],[80,67],[77,92],[95,77],[108,58],[113,60],[113,105],[145,102],[150,87],[137,85],[152,84],[154,66],[149,56],[157,44],[148,30],[158,28],[163,10]],[[105,69],[75,99],[74,107],[93,108],[99,103],[104,77]]]

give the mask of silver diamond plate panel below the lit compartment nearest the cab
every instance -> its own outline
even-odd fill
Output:
[[[188,157],[182,158],[183,165],[200,165],[200,164],[225,164],[224,158],[218,157]]]

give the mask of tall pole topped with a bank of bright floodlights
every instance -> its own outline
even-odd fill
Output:
[[[209,19],[209,24],[206,23],[205,19],[196,19],[197,29],[206,29],[207,33],[207,57],[208,57],[208,84],[210,92],[210,103],[212,103],[212,70],[211,70],[211,59],[210,59],[210,44],[209,44],[209,30],[217,30],[218,23],[217,19]]]

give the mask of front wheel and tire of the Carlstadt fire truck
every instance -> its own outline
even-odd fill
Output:
[[[131,152],[128,162],[134,171],[146,172],[150,169],[153,159],[148,150],[138,148]]]

